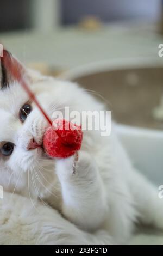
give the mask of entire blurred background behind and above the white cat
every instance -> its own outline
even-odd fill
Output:
[[[163,0],[0,4],[4,47],[30,68],[77,81],[109,101],[115,120],[127,125],[119,132],[131,159],[160,185],[163,57],[158,52],[163,44]],[[134,130],[137,127],[142,130]]]

